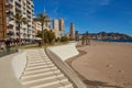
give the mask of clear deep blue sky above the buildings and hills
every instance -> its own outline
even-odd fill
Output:
[[[70,22],[79,33],[118,32],[132,36],[132,0],[33,0],[34,13],[51,20],[64,18],[65,32]]]

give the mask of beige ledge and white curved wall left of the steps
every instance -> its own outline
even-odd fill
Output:
[[[0,58],[0,88],[25,88],[19,78],[26,64],[26,53],[15,53]]]

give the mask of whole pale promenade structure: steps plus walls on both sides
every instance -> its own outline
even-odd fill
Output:
[[[87,88],[65,63],[76,44],[21,50],[0,57],[0,88]]]

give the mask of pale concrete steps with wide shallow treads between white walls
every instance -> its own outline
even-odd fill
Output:
[[[28,64],[21,76],[26,88],[74,88],[43,48],[28,50]]]

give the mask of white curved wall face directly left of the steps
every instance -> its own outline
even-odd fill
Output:
[[[21,54],[18,54],[16,56],[13,57],[11,63],[12,63],[14,74],[19,79],[26,65],[26,53],[23,52]]]

